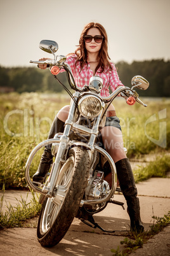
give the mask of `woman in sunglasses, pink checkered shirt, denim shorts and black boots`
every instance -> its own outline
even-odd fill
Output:
[[[41,59],[46,60],[46,59]],[[70,65],[74,75],[75,83],[79,87],[89,84],[89,78],[98,75],[103,78],[103,89],[101,96],[108,96],[108,87],[114,91],[117,87],[123,86],[117,75],[112,62],[109,61],[107,52],[107,33],[102,25],[89,23],[84,27],[79,40],[79,46],[75,54],[67,57],[66,62]],[[39,68],[46,69],[46,64],[39,64]],[[63,71],[63,70],[61,70]],[[63,132],[65,120],[67,120],[69,106],[65,106],[55,117],[48,138],[53,138],[56,132]],[[143,231],[140,219],[140,203],[137,197],[137,189],[134,183],[133,172],[129,159],[124,153],[121,125],[119,118],[115,115],[115,108],[110,104],[107,111],[105,127],[101,129],[103,144],[111,155],[117,169],[117,176],[122,193],[128,204],[128,214],[131,220],[131,231]],[[111,142],[111,143],[110,143]],[[33,176],[33,181],[43,182],[46,173],[52,162],[52,155],[49,146],[46,146],[39,164],[39,168]],[[111,174],[105,177],[108,183],[111,182]]]

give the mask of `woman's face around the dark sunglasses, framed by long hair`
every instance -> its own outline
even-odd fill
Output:
[[[101,36],[101,32],[99,29],[97,29],[96,27],[92,27],[91,29],[88,30],[87,34],[88,36]],[[93,38],[92,41],[90,43],[86,43],[85,41],[85,46],[86,46],[86,50],[88,53],[97,53],[100,51],[101,49],[101,43],[96,43],[95,39]]]

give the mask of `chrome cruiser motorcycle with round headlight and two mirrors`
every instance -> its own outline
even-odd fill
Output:
[[[68,231],[74,217],[93,228],[98,227],[93,215],[105,209],[108,203],[123,203],[114,200],[117,187],[114,160],[102,145],[100,129],[105,126],[108,106],[121,93],[126,103],[144,104],[134,90],[146,90],[148,81],[142,76],[134,76],[132,87],[119,87],[110,96],[100,95],[103,80],[93,76],[89,85],[77,87],[66,57],[56,55],[58,44],[55,41],[42,40],[39,47],[52,53],[54,59],[30,61],[35,64],[47,64],[51,74],[67,90],[71,97],[69,116],[63,133],[53,139],[46,139],[37,145],[29,155],[25,166],[25,178],[34,191],[41,194],[42,204],[37,225],[37,239],[42,246],[58,244]],[[74,94],[57,78],[60,69],[65,69],[67,80]],[[44,183],[35,183],[30,177],[30,165],[36,153],[44,146],[52,145],[53,165]],[[125,149],[126,150],[126,149]],[[112,186],[105,180],[105,171],[112,173]],[[123,207],[124,208],[124,207]],[[110,232],[110,231],[105,231]],[[114,232],[114,231],[112,231]]]

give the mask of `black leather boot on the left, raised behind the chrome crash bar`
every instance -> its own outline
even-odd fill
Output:
[[[63,132],[64,124],[65,123],[62,120],[58,119],[58,117],[55,117],[55,120],[53,121],[53,124],[51,125],[51,129],[49,131],[48,139],[54,138],[57,132]],[[35,182],[42,183],[45,180],[46,174],[48,173],[52,162],[53,162],[53,156],[51,154],[51,144],[49,144],[45,146],[44,153],[42,153],[39,167],[36,173],[34,174],[34,176],[32,177],[33,182],[35,181]]]

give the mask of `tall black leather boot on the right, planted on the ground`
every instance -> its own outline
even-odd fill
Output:
[[[119,179],[122,194],[127,205],[128,214],[131,220],[131,231],[143,232],[144,227],[140,218],[140,201],[137,197],[137,188],[134,182],[133,171],[129,159],[121,159],[115,163],[117,177]]]

